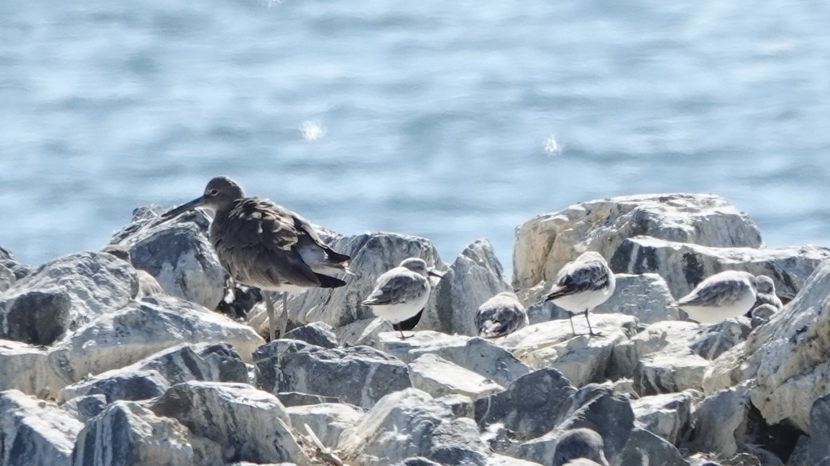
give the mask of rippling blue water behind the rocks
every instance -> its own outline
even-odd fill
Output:
[[[217,174],[345,234],[714,192],[830,245],[826,0],[0,2],[0,245],[100,248]]]

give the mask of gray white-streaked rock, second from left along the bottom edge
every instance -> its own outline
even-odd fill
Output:
[[[74,466],[207,465],[221,461],[215,449],[195,449],[178,421],[157,417],[134,401],[116,401],[87,421],[72,452]],[[203,453],[210,452],[213,454]]]

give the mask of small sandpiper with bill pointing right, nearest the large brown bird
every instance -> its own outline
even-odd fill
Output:
[[[393,326],[413,318],[427,305],[432,284],[429,276],[441,278],[443,275],[427,268],[427,263],[417,257],[403,260],[401,265],[390,269],[378,277],[374,290],[364,300],[372,306],[372,312],[379,318],[392,323]],[[401,339],[403,328],[399,329]]]

